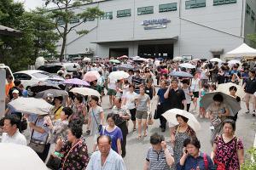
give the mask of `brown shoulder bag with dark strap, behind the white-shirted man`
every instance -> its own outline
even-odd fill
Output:
[[[37,122],[38,122],[38,118],[37,118],[35,124],[37,124]],[[47,133],[47,137],[46,137],[45,141],[42,141],[42,140],[38,140],[38,139],[32,139],[33,133],[34,133],[34,129],[32,129],[31,139],[30,139],[30,143],[28,144],[28,146],[31,147],[32,150],[34,150],[37,153],[43,153],[45,145],[46,145],[48,137],[49,137],[49,134]]]

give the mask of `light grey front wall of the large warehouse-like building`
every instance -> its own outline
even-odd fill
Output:
[[[81,8],[98,6],[104,12],[112,11],[113,20],[94,20],[79,26],[77,30],[92,30],[82,37],[72,31],[67,38],[67,54],[83,52],[84,48],[90,47],[94,55],[108,57],[109,48],[129,48],[129,56],[135,56],[138,42],[104,45],[90,42],[166,37],[178,37],[174,43],[174,56],[193,55],[195,58],[207,58],[212,56],[210,50],[221,48],[224,48],[225,53],[239,46],[243,42],[243,29],[247,31],[246,26],[243,28],[242,1],[213,6],[213,0],[207,0],[207,7],[191,9],[185,9],[185,1],[182,0],[110,0],[84,5]],[[177,3],[177,11],[159,13],[159,4],[164,3]],[[154,14],[137,15],[137,8],[146,6],[154,6]],[[128,8],[131,8],[130,17],[116,17],[117,10]],[[162,18],[171,20],[165,29],[144,30],[141,25],[143,20]]]

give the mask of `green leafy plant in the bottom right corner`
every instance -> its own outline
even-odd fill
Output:
[[[251,150],[247,150],[249,155],[248,159],[241,166],[241,170],[255,170],[256,169],[256,148],[252,148]],[[253,159],[252,159],[253,158]]]

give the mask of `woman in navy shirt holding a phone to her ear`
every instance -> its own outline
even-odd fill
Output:
[[[177,170],[212,169],[212,159],[200,151],[201,144],[196,137],[185,139],[183,146],[183,156],[177,162]]]

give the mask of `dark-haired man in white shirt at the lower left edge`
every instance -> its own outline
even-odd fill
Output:
[[[8,115],[4,117],[3,124],[3,135],[2,143],[12,143],[12,144],[23,144],[26,145],[26,138],[19,131],[20,119],[15,115]]]

